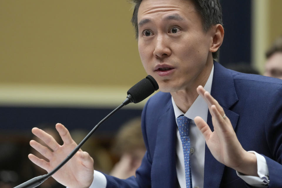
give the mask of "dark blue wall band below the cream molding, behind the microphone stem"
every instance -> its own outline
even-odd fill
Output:
[[[131,104],[130,104],[131,105]],[[92,130],[113,109],[0,107],[0,130],[30,131],[32,127],[59,122],[69,130]],[[141,116],[142,110],[120,109],[95,132],[114,134],[127,120]]]

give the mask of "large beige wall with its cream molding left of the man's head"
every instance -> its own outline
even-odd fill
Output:
[[[132,12],[127,0],[0,0],[0,105],[126,95],[146,76]]]

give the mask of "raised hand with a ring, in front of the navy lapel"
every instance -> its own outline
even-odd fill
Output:
[[[202,86],[198,86],[197,92],[208,104],[214,131],[211,131],[209,125],[201,117],[195,117],[194,121],[204,135],[214,158],[238,172],[258,176],[255,154],[243,149],[223,108]]]

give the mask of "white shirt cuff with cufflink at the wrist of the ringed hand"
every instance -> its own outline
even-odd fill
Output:
[[[269,172],[268,172],[268,166],[266,164],[265,158],[255,151],[248,151],[248,152],[254,153],[256,155],[259,177],[247,176],[247,175],[241,174],[240,172],[236,171],[237,175],[241,179],[243,179],[247,184],[251,186],[254,186],[254,187],[268,186],[269,185]]]

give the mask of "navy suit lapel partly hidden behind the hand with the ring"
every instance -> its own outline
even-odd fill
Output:
[[[239,115],[229,110],[237,101],[234,88],[234,81],[231,72],[214,62],[214,75],[212,81],[211,95],[224,108],[226,116],[230,119],[235,130]],[[208,113],[207,124],[213,131],[212,116]],[[224,171],[224,164],[218,162],[211,154],[207,145],[205,146],[205,165],[204,165],[204,187],[219,187]]]

